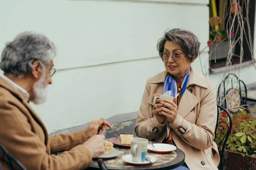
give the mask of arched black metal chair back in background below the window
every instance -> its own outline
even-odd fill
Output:
[[[244,82],[235,74],[228,74],[227,77],[218,86],[218,105],[224,108],[232,108],[231,102],[236,105],[247,104],[247,88]],[[231,113],[236,113],[238,109],[231,109]]]

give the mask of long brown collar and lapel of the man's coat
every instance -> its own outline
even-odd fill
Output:
[[[38,122],[38,125],[40,125],[44,130],[45,144],[47,145],[47,142],[48,142],[47,129],[44,126],[41,119],[39,118],[39,116],[35,113],[35,111],[31,108],[29,103],[26,101],[26,99],[24,99],[24,97],[21,94],[19,94],[19,92],[12,85],[6,82],[6,80],[4,80],[2,77],[0,77],[0,87],[8,90],[13,96],[15,96],[18,100],[20,100],[20,102],[22,102],[22,104],[29,110],[29,113],[31,114],[31,116],[35,119],[36,122]]]

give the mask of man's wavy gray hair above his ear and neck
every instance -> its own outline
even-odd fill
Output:
[[[26,76],[32,71],[33,62],[47,65],[55,55],[55,46],[46,36],[25,31],[3,48],[0,68],[4,74]]]

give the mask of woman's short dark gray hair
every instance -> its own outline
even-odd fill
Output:
[[[198,57],[200,42],[198,37],[195,36],[195,34],[193,34],[191,31],[186,31],[179,28],[166,30],[163,38],[157,42],[157,50],[159,54],[163,52],[166,41],[173,41],[175,44],[180,45],[183,52],[191,60]]]

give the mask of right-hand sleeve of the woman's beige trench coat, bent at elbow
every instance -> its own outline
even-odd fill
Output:
[[[215,86],[209,82],[208,88],[201,99],[200,111],[195,124],[177,116],[172,124],[169,124],[177,135],[179,135],[190,146],[200,150],[206,150],[212,146],[214,140],[215,126],[217,122],[217,101]],[[186,132],[180,133],[182,126]],[[184,132],[185,130],[182,130]]]

